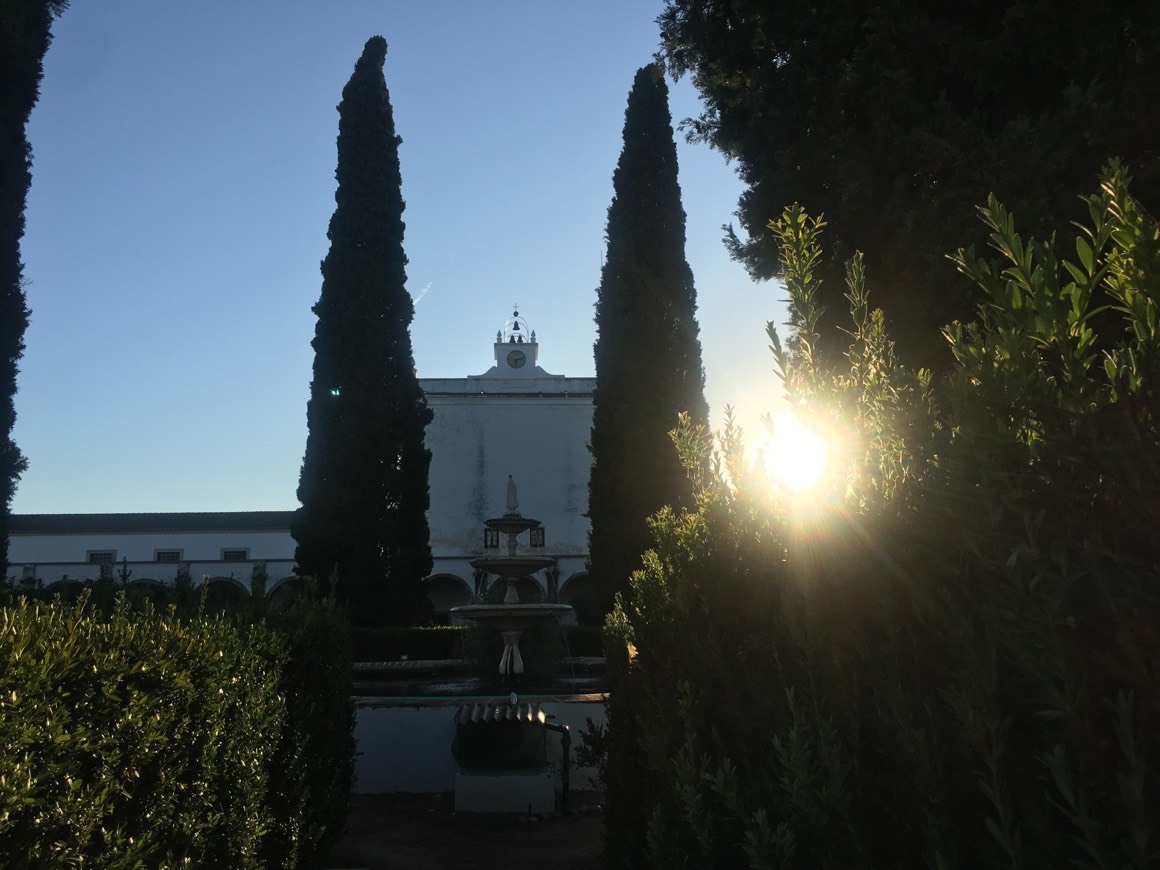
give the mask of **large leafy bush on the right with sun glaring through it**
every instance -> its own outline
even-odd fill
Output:
[[[654,867],[1160,863],[1160,230],[1112,166],[1073,260],[984,210],[996,261],[934,383],[848,273],[814,360],[821,222],[775,225],[812,501],[727,427],[606,623],[608,853]],[[690,469],[712,443],[677,433]]]

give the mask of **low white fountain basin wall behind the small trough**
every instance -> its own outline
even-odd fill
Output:
[[[479,698],[358,698],[355,709],[355,791],[361,795],[387,792],[444,792],[455,790],[458,764],[451,755],[455,738],[455,713],[459,704]],[[522,698],[538,703],[550,722],[567,725],[572,737],[570,789],[590,791],[597,788],[595,770],[575,766],[575,751],[585,731],[585,719],[604,724],[604,705],[599,696],[575,698]],[[548,732],[548,759],[556,768],[556,788],[560,789],[563,734]]]

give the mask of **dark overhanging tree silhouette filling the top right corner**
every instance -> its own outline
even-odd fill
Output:
[[[791,203],[827,223],[819,302],[847,310],[844,264],[867,287],[900,357],[944,369],[941,327],[974,318],[979,288],[948,256],[984,249],[976,206],[995,194],[1044,238],[1087,218],[1085,190],[1111,157],[1160,206],[1160,6],[1123,0],[666,0],[665,60],[705,109],[690,138],[734,161],[746,189],[732,252],[780,275],[769,222]],[[820,351],[839,361],[841,317]]]

